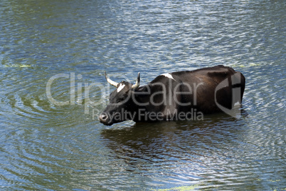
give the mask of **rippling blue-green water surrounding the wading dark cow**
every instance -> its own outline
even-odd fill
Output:
[[[1,1],[1,190],[285,190],[285,9],[282,0]],[[140,71],[143,85],[218,64],[246,77],[242,118],[97,120],[110,93],[104,71],[118,82]],[[48,99],[55,75],[51,96],[67,105]]]

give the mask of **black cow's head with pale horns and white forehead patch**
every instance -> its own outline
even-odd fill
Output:
[[[137,81],[134,85],[126,81],[116,83],[115,81],[110,80],[106,73],[105,78],[108,83],[116,87],[116,90],[110,93],[110,103],[100,114],[100,123],[112,125],[113,123],[130,120],[131,118],[129,117],[131,116],[128,115],[127,112],[134,110],[132,93],[139,87],[140,73],[138,73]]]

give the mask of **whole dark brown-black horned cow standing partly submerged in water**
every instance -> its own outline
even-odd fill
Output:
[[[107,78],[106,74],[105,77]],[[245,77],[233,68],[214,66],[195,71],[179,71],[157,76],[146,86],[107,81],[117,89],[100,115],[100,122],[112,125],[124,120],[184,120],[231,110],[240,104]]]

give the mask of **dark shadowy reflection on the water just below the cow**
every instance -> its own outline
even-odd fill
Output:
[[[109,140],[108,147],[117,157],[125,158],[129,165],[137,159],[149,162],[191,159],[194,152],[203,155],[205,148],[240,136],[246,115],[243,111],[240,119],[220,113],[201,121],[136,123],[131,128],[102,130],[101,135]]]

